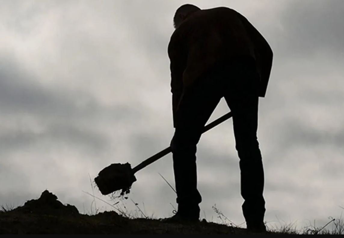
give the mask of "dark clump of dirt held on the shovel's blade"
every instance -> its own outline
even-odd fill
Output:
[[[113,163],[98,173],[94,179],[101,194],[107,195],[122,190],[121,195],[128,194],[136,181],[130,163]]]

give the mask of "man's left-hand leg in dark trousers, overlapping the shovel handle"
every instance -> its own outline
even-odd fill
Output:
[[[197,190],[196,145],[202,129],[221,99],[216,81],[204,78],[184,94],[176,112],[175,133],[171,148],[177,192],[178,213],[199,218],[202,201]]]

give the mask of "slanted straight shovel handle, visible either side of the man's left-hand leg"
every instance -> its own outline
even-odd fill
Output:
[[[208,125],[206,125],[203,130],[202,130],[202,134],[206,131],[209,131],[211,128],[217,126],[218,124],[226,121],[228,118],[232,117],[232,112],[228,112],[227,114],[223,115],[222,117],[217,118],[215,121],[209,123]],[[157,154],[149,157],[148,159],[142,161],[139,165],[135,166],[132,169],[133,173],[136,173],[137,171],[143,169],[144,167],[146,167],[147,165],[150,165],[151,163],[157,161],[158,159],[160,159],[161,157],[169,154],[171,152],[171,146],[167,147],[166,149],[161,150],[160,152],[158,152]]]

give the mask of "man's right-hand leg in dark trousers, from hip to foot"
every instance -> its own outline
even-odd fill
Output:
[[[264,170],[257,140],[258,81],[253,68],[244,64],[237,69],[238,78],[230,83],[231,89],[225,99],[233,112],[236,150],[240,159],[241,195],[245,200],[243,214],[248,228],[264,230]]]

